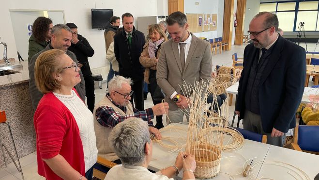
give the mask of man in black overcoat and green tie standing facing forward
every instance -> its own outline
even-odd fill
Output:
[[[144,110],[144,70],[139,63],[139,56],[143,51],[145,36],[134,27],[134,17],[130,13],[122,15],[122,33],[114,36],[114,54],[119,62],[119,74],[125,78],[133,80],[132,90],[134,91],[135,108]]]

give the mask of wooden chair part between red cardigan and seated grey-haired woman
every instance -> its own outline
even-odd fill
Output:
[[[93,176],[97,179],[104,180],[107,171],[117,164],[104,159],[101,156],[97,156],[97,162],[93,167]]]

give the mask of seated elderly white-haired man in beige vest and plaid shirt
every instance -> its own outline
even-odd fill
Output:
[[[108,136],[112,129],[125,119],[137,117],[146,121],[149,124],[149,131],[154,133],[157,139],[161,139],[161,134],[153,127],[151,119],[156,115],[166,114],[168,111],[167,102],[156,104],[144,111],[138,111],[130,102],[134,93],[131,84],[130,78],[115,76],[108,82],[108,93],[95,105],[93,110],[98,155],[117,164],[121,164],[121,161],[118,160],[119,157],[116,156],[108,143]]]

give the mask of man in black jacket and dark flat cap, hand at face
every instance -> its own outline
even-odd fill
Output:
[[[85,37],[77,33],[77,26],[72,23],[66,23],[72,31],[71,46],[68,48],[71,52],[76,54],[78,66],[81,68],[85,81],[85,96],[87,97],[88,108],[93,112],[95,96],[94,96],[94,81],[90,69],[88,57],[92,57],[94,50],[90,46]]]

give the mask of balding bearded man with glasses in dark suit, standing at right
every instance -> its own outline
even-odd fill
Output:
[[[304,93],[305,50],[277,33],[278,18],[269,12],[249,24],[253,43],[244,50],[236,114],[243,128],[267,135],[283,146],[285,132],[296,126],[295,113]]]

